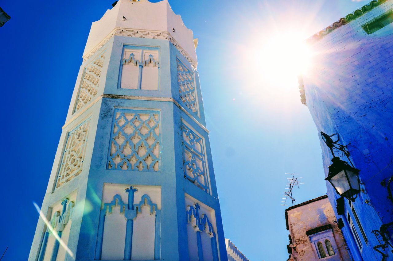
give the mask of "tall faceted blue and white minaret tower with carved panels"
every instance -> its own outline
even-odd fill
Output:
[[[196,44],[167,0],[92,24],[29,260],[227,260]]]

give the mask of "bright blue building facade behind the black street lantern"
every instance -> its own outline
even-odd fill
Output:
[[[312,36],[313,68],[301,101],[320,131],[347,146],[360,170],[354,202],[330,183],[327,195],[354,260],[393,260],[393,1],[375,0]],[[327,176],[332,155],[321,139]],[[323,178],[323,177],[321,177]]]

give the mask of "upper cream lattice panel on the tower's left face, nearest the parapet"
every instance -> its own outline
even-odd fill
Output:
[[[102,53],[84,68],[83,79],[79,88],[79,95],[74,112],[83,108],[97,94],[104,59],[105,53]]]

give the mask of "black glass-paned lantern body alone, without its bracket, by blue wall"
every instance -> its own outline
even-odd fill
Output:
[[[355,201],[360,192],[358,173],[360,170],[353,168],[339,157],[333,157],[329,166],[329,175],[325,180],[332,184],[336,192],[351,201]],[[355,197],[354,197],[355,196]]]

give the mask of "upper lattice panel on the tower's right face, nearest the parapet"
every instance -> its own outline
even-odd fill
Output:
[[[177,62],[177,84],[179,86],[180,100],[184,105],[198,116],[198,105],[194,86],[194,74],[176,59]]]

